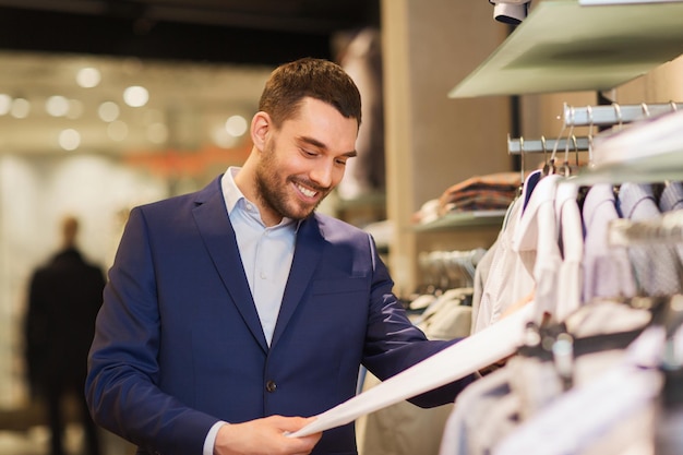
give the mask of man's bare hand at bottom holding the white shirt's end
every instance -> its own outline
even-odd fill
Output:
[[[271,416],[244,423],[224,424],[216,435],[214,455],[305,455],[311,453],[323,433],[289,438],[313,417]]]

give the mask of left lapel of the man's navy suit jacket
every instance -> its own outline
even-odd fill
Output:
[[[244,275],[235,230],[226,212],[219,178],[199,193],[193,215],[206,250],[232,302],[254,338],[266,351],[267,343]]]

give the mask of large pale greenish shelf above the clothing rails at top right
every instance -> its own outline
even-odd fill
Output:
[[[683,2],[546,0],[450,98],[606,91],[683,53]]]

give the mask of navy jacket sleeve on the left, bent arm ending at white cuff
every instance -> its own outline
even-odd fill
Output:
[[[86,399],[95,421],[151,453],[202,453],[218,420],[158,387],[160,318],[143,212],[131,212],[88,356]]]

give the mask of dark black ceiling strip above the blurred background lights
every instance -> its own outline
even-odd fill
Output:
[[[231,63],[329,56],[379,0],[0,0],[0,47]]]

